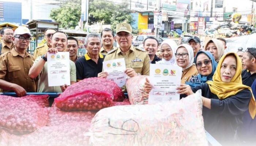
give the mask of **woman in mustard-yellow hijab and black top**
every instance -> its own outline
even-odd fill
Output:
[[[242,84],[241,71],[236,53],[227,53],[219,60],[212,81],[195,88],[185,84],[177,88],[177,93],[186,95],[202,89],[204,127],[222,145],[237,145],[244,112],[249,108],[252,118],[256,114],[255,98],[251,88]]]

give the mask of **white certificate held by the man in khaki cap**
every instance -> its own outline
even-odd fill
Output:
[[[103,70],[104,72],[108,72],[108,79],[116,82],[119,87],[125,85],[126,74],[124,73],[125,61],[124,58],[113,59],[109,61],[103,62]]]

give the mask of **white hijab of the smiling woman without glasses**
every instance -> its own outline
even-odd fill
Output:
[[[161,43],[160,51],[161,51],[161,48],[162,48],[163,44],[167,44],[168,46],[170,46],[170,48],[173,51],[173,56],[172,56],[172,58],[169,61],[167,61],[167,60],[162,58],[161,61],[155,62],[155,64],[166,64],[166,65],[173,65],[173,64],[175,64],[176,65],[175,52],[176,52],[176,49],[178,47],[177,44],[172,39],[166,39],[165,41],[163,41]]]

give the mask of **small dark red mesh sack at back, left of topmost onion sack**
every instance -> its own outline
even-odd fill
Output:
[[[49,107],[49,95],[26,95],[23,97],[20,97],[22,99],[26,99],[29,101],[34,101],[36,102],[40,107]]]

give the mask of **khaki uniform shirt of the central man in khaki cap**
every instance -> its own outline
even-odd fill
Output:
[[[131,45],[130,49],[123,53],[120,47],[108,52],[104,61],[124,58],[126,68],[132,68],[136,73],[149,75],[150,58],[144,49],[139,49]]]

